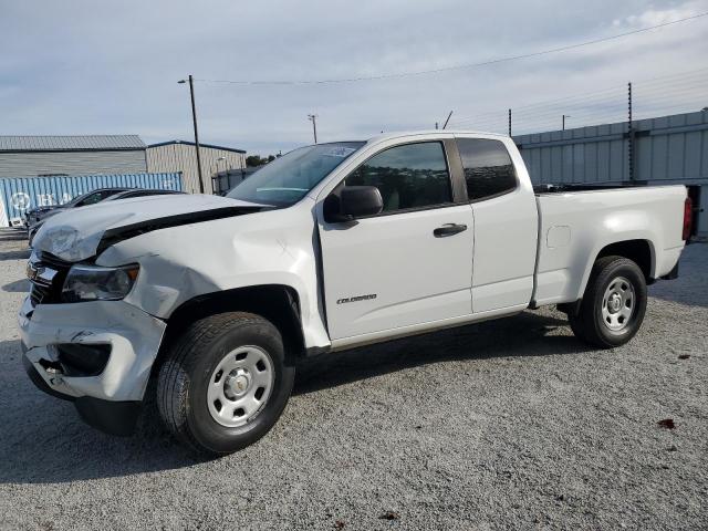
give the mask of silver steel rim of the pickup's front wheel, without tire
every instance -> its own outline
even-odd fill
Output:
[[[252,421],[268,403],[274,382],[268,352],[253,345],[235,348],[211,373],[207,388],[211,418],[228,428]]]

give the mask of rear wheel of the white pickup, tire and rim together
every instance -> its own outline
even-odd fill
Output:
[[[604,257],[593,267],[576,315],[569,315],[576,337],[601,348],[624,345],[639,331],[646,312],[646,280],[623,257]]]

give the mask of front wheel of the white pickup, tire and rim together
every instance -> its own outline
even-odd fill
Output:
[[[194,323],[159,371],[165,426],[200,454],[220,456],[260,439],[283,412],[295,368],[266,319],[223,313]]]

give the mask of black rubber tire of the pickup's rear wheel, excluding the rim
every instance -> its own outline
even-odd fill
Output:
[[[603,305],[605,291],[616,279],[626,279],[633,290],[632,314],[621,330],[612,330],[605,322]],[[624,282],[623,282],[624,283]],[[613,348],[627,343],[639,331],[646,312],[646,280],[639,267],[623,257],[603,257],[593,266],[577,315],[569,315],[575,336],[593,346]]]

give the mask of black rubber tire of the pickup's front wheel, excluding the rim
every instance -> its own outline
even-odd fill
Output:
[[[268,353],[274,382],[252,420],[227,427],[212,417],[207,389],[225,356],[244,345]],[[175,342],[159,371],[157,407],[163,423],[180,442],[202,455],[223,456],[270,430],[285,408],[294,377],[295,367],[285,357],[282,336],[272,323],[251,313],[218,314],[191,324]]]

